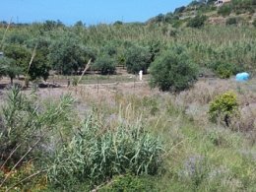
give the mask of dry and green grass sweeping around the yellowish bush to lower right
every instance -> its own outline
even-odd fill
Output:
[[[254,82],[236,85],[233,80],[200,81],[194,89],[178,96],[149,92],[147,86],[127,93],[129,86],[120,86],[107,99],[81,99],[96,106],[102,116],[119,116],[128,123],[139,121],[162,138],[166,145],[164,170],[149,181],[156,191],[253,191],[254,131],[231,131],[212,124],[207,120],[207,111],[208,102],[228,90],[237,93],[241,107],[245,101],[253,104],[256,92],[250,88]],[[250,95],[250,99],[244,100],[244,95]],[[194,104],[197,110],[187,112]]]

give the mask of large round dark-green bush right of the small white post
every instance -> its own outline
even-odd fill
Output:
[[[161,91],[180,92],[188,89],[197,79],[197,68],[182,47],[165,51],[153,63],[151,86]]]

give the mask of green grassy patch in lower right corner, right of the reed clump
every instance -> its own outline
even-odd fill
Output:
[[[160,191],[255,189],[256,148],[248,135],[209,122],[202,126],[179,112],[157,116],[160,123],[154,129],[170,148]]]

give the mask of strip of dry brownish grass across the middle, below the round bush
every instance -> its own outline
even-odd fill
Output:
[[[137,104],[140,100],[145,97],[155,96],[159,102],[159,111],[157,116],[150,115],[148,120],[149,122],[157,122],[156,126],[161,124],[162,129],[165,129],[165,124],[168,124],[167,121],[173,121],[172,123],[175,124],[174,121],[177,120],[176,118],[173,120],[165,119],[162,113],[166,112],[165,109],[168,105],[174,105],[174,107],[180,108],[180,111],[185,112],[196,124],[207,127],[210,123],[208,120],[209,102],[216,96],[224,94],[227,91],[232,91],[238,97],[240,111],[239,117],[233,119],[232,129],[252,131],[256,129],[256,88],[254,87],[254,83],[255,80],[251,80],[245,84],[237,84],[233,80],[200,80],[195,84],[194,88],[176,96],[168,93],[160,93],[156,89],[151,90],[147,82],[93,84],[70,88],[39,89],[37,95],[41,99],[55,99],[59,98],[59,96],[70,94],[77,99],[76,107],[78,113],[81,115],[92,109],[94,105],[99,105],[109,110],[109,114],[119,110],[122,111],[123,116],[129,116],[131,119],[137,118],[140,115],[139,112],[134,112],[138,110],[136,105],[140,105],[140,103]],[[150,113],[149,111],[146,112]],[[162,119],[162,117],[164,118]]]

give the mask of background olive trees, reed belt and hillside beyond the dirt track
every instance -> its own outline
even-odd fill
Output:
[[[207,11],[207,7],[210,10]],[[137,74],[140,70],[148,73],[152,63],[173,44],[184,46],[190,60],[201,68],[218,61],[253,71],[256,47],[255,32],[250,27],[254,24],[253,16],[250,13],[246,18],[231,15],[223,19],[226,27],[212,26],[213,19],[207,13],[215,11],[213,7],[213,1],[194,1],[174,13],[160,14],[145,24],[88,27],[66,27],[54,21],[12,24],[5,36],[7,23],[2,23],[0,39],[4,37],[1,44],[4,58],[0,63],[2,71],[6,69],[2,74],[11,75],[11,80],[25,75],[32,81],[37,78],[47,80],[50,70],[56,74],[77,75],[90,59],[90,69],[103,75],[114,74],[120,66],[129,73]],[[226,16],[235,10],[249,8],[255,10],[253,1],[232,1],[216,9]],[[8,71],[6,65],[12,66],[9,69],[13,70]],[[214,72],[218,73],[216,69]]]

